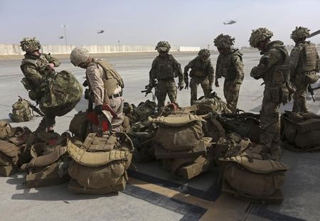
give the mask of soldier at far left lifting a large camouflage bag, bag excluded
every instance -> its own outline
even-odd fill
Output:
[[[41,44],[36,38],[23,38],[20,47],[26,51],[20,66],[24,75],[21,82],[30,99],[38,104],[46,92],[46,79],[54,74],[54,68],[60,65],[60,61],[50,54],[40,53]],[[55,115],[45,113],[36,131],[53,132],[54,125]]]

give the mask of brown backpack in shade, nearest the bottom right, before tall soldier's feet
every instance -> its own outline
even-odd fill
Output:
[[[279,161],[252,159],[247,156],[222,158],[223,179],[238,193],[269,196],[282,187],[289,166]]]

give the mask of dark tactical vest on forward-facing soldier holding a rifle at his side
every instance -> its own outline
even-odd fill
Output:
[[[177,77],[176,72],[174,72],[174,57],[168,55],[166,58],[156,57],[156,79],[165,80]]]

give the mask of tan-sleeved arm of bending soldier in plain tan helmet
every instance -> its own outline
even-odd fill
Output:
[[[103,81],[100,77],[100,71],[97,66],[89,66],[86,70],[87,79],[90,82],[91,90],[94,97],[95,105],[103,104],[105,95],[105,88],[103,87]]]

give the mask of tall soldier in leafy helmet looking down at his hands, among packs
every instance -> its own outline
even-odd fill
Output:
[[[267,28],[252,30],[250,45],[261,51],[260,63],[252,68],[250,76],[265,81],[260,120],[262,134],[260,142],[269,149],[272,160],[278,160],[280,146],[279,105],[287,103],[289,92],[289,55],[282,41],[270,41],[272,31]]]

